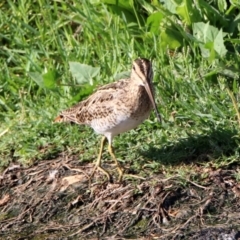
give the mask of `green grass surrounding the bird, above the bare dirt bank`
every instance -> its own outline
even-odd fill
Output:
[[[1,3],[2,169],[12,162],[27,166],[53,159],[62,151],[79,154],[82,162],[93,161],[99,137],[91,129],[52,121],[94,87],[128,71],[139,56],[153,59],[164,121],[158,124],[152,114],[138,129],[115,139],[122,164],[133,171],[169,174],[190,173],[193,163],[217,168],[238,164],[239,78],[226,72],[240,64],[237,51],[209,61],[197,44],[189,48],[186,43],[171,55],[161,48],[160,36],[138,23],[129,24],[106,5],[72,2]],[[71,61],[100,67],[94,86],[76,82],[69,71]],[[39,77],[45,76],[48,84],[50,75],[53,86],[40,86]]]

